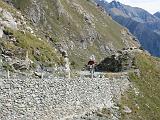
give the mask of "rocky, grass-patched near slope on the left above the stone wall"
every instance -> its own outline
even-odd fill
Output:
[[[46,66],[59,62],[59,53],[55,47],[34,32],[21,12],[2,1],[0,31],[0,59],[7,69],[34,68],[38,61]]]

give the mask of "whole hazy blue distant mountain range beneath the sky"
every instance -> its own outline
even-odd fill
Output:
[[[141,8],[124,5],[118,1],[107,3],[99,0],[96,3],[115,21],[127,27],[139,39],[144,49],[154,56],[160,56],[160,18],[157,14],[152,15]]]

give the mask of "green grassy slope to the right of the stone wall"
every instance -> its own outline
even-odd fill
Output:
[[[160,119],[160,60],[146,54],[138,54],[135,61],[141,76],[130,74],[135,90],[130,90],[122,98],[122,105],[132,109],[131,114],[122,112],[124,120],[159,120]]]

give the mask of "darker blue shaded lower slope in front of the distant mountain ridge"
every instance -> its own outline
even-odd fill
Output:
[[[115,17],[116,21],[127,27],[140,41],[142,47],[152,55],[160,56],[160,35],[147,28],[144,24],[122,16]],[[125,21],[124,21],[125,19]]]

